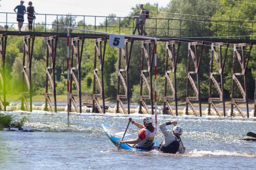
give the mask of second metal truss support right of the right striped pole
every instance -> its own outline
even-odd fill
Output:
[[[187,56],[187,92],[186,92],[186,114],[188,114],[188,106],[192,108],[194,114],[198,116],[197,110],[192,104],[192,101],[198,101],[199,102],[199,114],[202,116],[202,110],[201,110],[201,94],[200,94],[200,82],[199,82],[199,68],[201,63],[201,58],[203,54],[203,42],[191,42],[188,43],[188,56]],[[201,54],[200,57],[198,57],[197,47],[198,45],[201,45]],[[190,71],[190,62],[191,59],[194,63],[194,71]],[[194,82],[194,79],[192,75],[196,75],[197,77],[197,85]],[[190,84],[192,88],[194,89],[195,97],[189,96],[189,89]]]

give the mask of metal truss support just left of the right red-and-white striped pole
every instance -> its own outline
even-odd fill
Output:
[[[139,93],[139,113],[142,113],[142,105],[146,109],[147,113],[154,114],[153,108],[153,87],[152,87],[152,64],[153,64],[153,54],[151,54],[151,40],[146,40],[142,42],[142,54],[141,54],[141,70],[140,70],[140,93]],[[155,46],[153,46],[153,51]],[[144,70],[144,58],[146,59],[147,69]],[[149,82],[146,78],[146,73],[148,73]],[[148,95],[142,95],[143,82],[145,82]],[[145,99],[151,100],[151,111],[147,106]]]

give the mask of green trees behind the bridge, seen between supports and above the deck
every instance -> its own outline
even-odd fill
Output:
[[[139,9],[139,5],[134,7],[135,9]],[[150,18],[181,18],[187,20],[210,20],[215,22],[216,20],[225,20],[226,23],[230,22],[231,25],[239,24],[242,26],[248,26],[249,23],[246,23],[243,20],[240,20],[240,23],[232,23],[234,20],[226,19],[226,18],[237,18],[237,19],[245,19],[245,20],[254,20],[256,18],[256,8],[252,8],[249,3],[238,3],[236,1],[227,1],[227,0],[216,0],[216,1],[208,1],[208,0],[171,0],[167,7],[158,7],[158,4],[145,4],[145,9],[149,9]],[[136,10],[135,10],[136,11]],[[152,12],[155,11],[155,12]],[[158,13],[159,11],[165,13]],[[192,14],[194,16],[184,16],[179,14]],[[110,16],[115,16],[111,14]],[[128,14],[128,17],[134,16],[134,13]],[[219,18],[208,18],[202,16],[214,16],[214,17],[222,17]],[[84,21],[76,21],[75,18],[68,18],[69,16],[62,16],[58,19],[58,24],[69,25],[70,22],[72,25],[84,25]],[[147,27],[154,27],[155,21],[150,20],[146,21],[148,23]],[[54,21],[53,23],[57,23]],[[119,18],[107,18],[107,20],[101,23],[102,29],[104,29],[104,25],[107,23],[108,26],[112,26],[109,32],[119,32]],[[181,27],[183,29],[187,29],[187,33],[185,32],[183,37],[191,36],[191,25],[192,22],[183,22]],[[177,24],[174,21],[170,21],[170,27],[174,27]],[[121,27],[133,27],[132,20],[128,18],[121,19],[120,22]],[[159,21],[158,25],[161,27],[167,27],[166,23],[163,21]],[[194,31],[194,36],[203,36],[203,32],[200,30],[201,23],[197,23],[194,21],[193,29],[198,30]],[[215,27],[218,29],[227,29],[227,25],[215,25],[212,23],[208,23],[205,26],[206,32],[209,33],[210,36],[215,36]],[[35,25],[35,29],[37,31],[44,31],[44,27],[42,25]],[[52,32],[56,31],[56,27],[52,28]],[[231,28],[234,30],[237,28]],[[233,36],[239,35],[251,35],[250,28],[242,30],[242,32],[237,31],[232,33]],[[59,28],[61,31],[61,28]],[[147,30],[149,35],[154,35],[155,29]],[[161,30],[159,30],[161,31]],[[72,31],[75,32],[75,31]],[[131,34],[131,32],[126,31],[125,29],[121,30],[122,33]],[[166,35],[167,36],[167,35]],[[179,36],[179,32],[169,32],[169,36]],[[217,36],[227,36],[227,32],[218,32]],[[247,37],[241,37],[241,39],[245,39]],[[239,38],[238,38],[239,39]],[[233,48],[233,46],[230,46]],[[255,47],[252,48],[252,51],[256,51]],[[224,53],[224,52],[223,52]],[[105,97],[108,99],[116,99],[117,93],[117,72],[118,72],[118,56],[119,49],[108,47],[106,48],[105,53],[105,63],[104,63],[104,86],[105,86]],[[7,93],[8,94],[16,94],[21,93],[21,83],[22,83],[22,57],[23,57],[23,37],[22,36],[8,36],[7,40],[7,49],[6,49],[6,73],[7,73]],[[249,68],[247,70],[247,88],[248,91],[254,91],[254,83],[255,83],[255,73],[256,73],[256,53],[251,53],[251,59],[249,61]],[[231,94],[231,80],[232,80],[232,59],[233,59],[233,51],[232,49],[228,52],[228,57],[226,59],[226,65],[224,70],[224,95],[225,97],[229,97]],[[141,42],[136,41],[133,45],[133,52],[130,60],[130,89],[132,93],[131,102],[138,102],[138,94],[139,94],[139,71],[140,70],[140,61],[141,61]],[[94,63],[94,40],[86,39],[84,45],[84,51],[82,55],[82,64],[81,64],[81,75],[82,75],[82,93],[83,94],[91,94],[92,86],[93,86],[93,63]],[[208,84],[209,84],[209,68],[210,68],[210,46],[204,46],[203,50],[203,58],[200,67],[200,84],[201,84],[201,97],[203,100],[208,98]],[[217,65],[214,66],[217,68]],[[66,74],[66,39],[59,38],[57,45],[57,58],[56,58],[56,66],[55,66],[57,74]],[[43,37],[36,37],[34,43],[34,52],[32,59],[32,88],[33,95],[44,95],[45,86],[46,86],[46,39]],[[182,43],[180,54],[178,57],[177,64],[177,93],[179,100],[185,100],[186,96],[186,82],[187,82],[187,43]],[[163,96],[163,88],[165,82],[165,43],[158,43],[158,102],[162,101]],[[74,84],[73,84],[74,85]],[[57,82],[57,94],[66,94],[66,81],[64,77],[61,78],[61,81]],[[123,89],[121,88],[121,91]],[[145,90],[146,91],[146,90]],[[239,92],[239,89],[236,88],[235,91]],[[168,92],[170,93],[170,91]],[[249,98],[253,99],[254,94],[248,93]],[[8,118],[8,117],[7,117]],[[9,117],[9,119],[12,117]],[[7,121],[7,125],[8,121]],[[6,125],[5,125],[6,126]]]

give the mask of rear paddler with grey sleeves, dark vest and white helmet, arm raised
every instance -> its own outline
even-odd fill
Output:
[[[176,124],[177,122],[173,120],[159,125],[165,136],[165,140],[162,141],[158,147],[161,152],[169,154],[176,154],[176,152],[181,154],[185,153],[186,148],[181,141],[182,128],[180,126],[175,126]],[[172,131],[166,128],[167,125],[174,125]]]

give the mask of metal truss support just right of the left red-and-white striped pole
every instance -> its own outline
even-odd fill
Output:
[[[71,39],[71,72],[70,72],[70,100],[69,103],[73,103],[75,111],[82,113],[82,96],[81,96],[81,61],[82,52],[84,47],[85,37],[82,37],[81,51],[80,51],[80,38],[75,37]],[[74,57],[75,56],[75,57]],[[74,67],[74,63],[76,66]],[[77,76],[76,76],[77,75]],[[72,82],[75,81],[77,93],[72,93]],[[79,97],[79,109],[75,102],[75,97]],[[71,111],[71,104],[69,105],[69,111]]]

